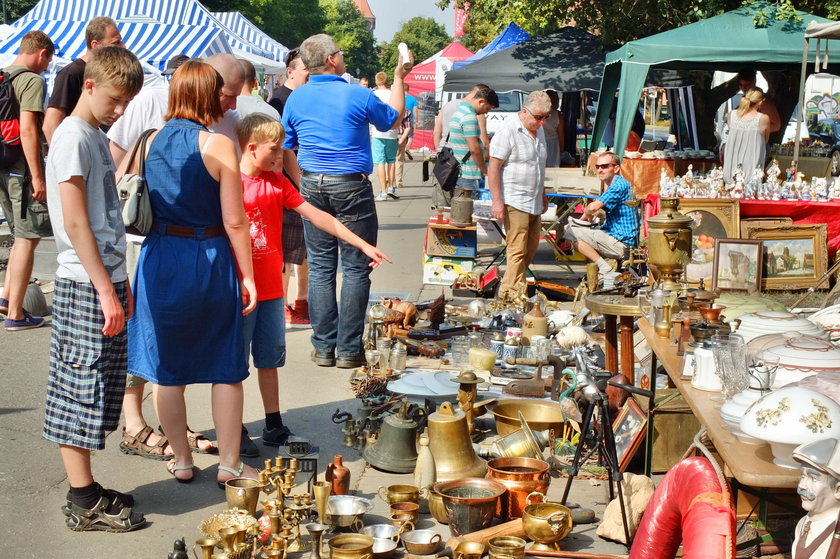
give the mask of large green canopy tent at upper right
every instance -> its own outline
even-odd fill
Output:
[[[802,39],[810,21],[830,20],[797,12],[802,21],[776,20],[772,15],[767,25],[756,27],[756,13],[775,6],[756,2],[731,12],[698,21],[684,27],[631,41],[607,54],[604,77],[595,116],[592,144],[597,146],[610,116],[612,99],[619,91],[616,113],[615,152],[624,153],[633,124],[633,113],[648,72],[653,68],[673,70],[723,70],[737,72],[749,66],[757,70],[799,70],[802,63]],[[833,55],[832,63],[840,63]]]

